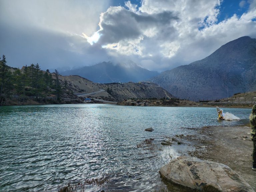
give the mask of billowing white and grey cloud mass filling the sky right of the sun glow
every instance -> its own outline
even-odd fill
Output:
[[[97,44],[115,57],[130,56],[165,70],[210,55],[241,36],[256,36],[254,1],[241,17],[218,22],[220,0],[143,0],[141,7],[110,7],[101,14]],[[242,5],[242,3],[241,3]],[[141,62],[143,60],[143,62]],[[152,67],[152,63],[157,66]]]

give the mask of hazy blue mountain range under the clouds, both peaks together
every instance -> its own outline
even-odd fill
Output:
[[[248,36],[226,43],[208,57],[158,74],[129,61],[102,62],[64,71],[95,83],[139,82],[149,79],[178,98],[216,100],[256,90],[256,39]]]

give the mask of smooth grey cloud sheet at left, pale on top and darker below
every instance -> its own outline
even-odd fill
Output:
[[[80,36],[98,29],[109,0],[1,0],[0,54],[7,64],[39,63],[42,69],[92,65],[108,58]]]

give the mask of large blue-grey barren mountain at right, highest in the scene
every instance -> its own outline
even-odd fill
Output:
[[[150,81],[174,96],[216,99],[256,90],[256,39],[241,37],[210,56],[164,71]]]

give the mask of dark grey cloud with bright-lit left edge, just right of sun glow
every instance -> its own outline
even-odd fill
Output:
[[[168,27],[173,20],[178,20],[178,17],[170,11],[140,15],[122,7],[111,7],[101,16],[100,26],[103,30],[99,31],[101,35],[99,43],[136,39],[147,29]]]

